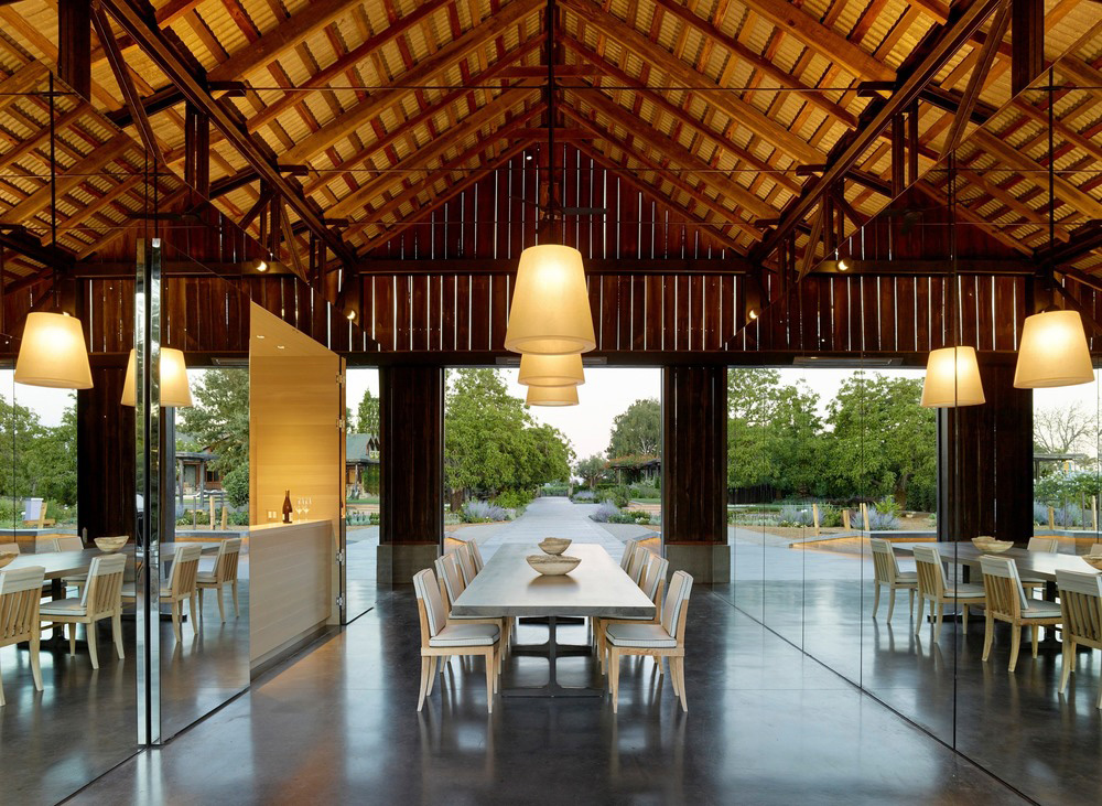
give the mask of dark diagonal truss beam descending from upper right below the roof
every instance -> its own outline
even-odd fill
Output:
[[[770,0],[773,1],[773,0]],[[753,0],[754,3],[760,0]],[[766,258],[784,243],[797,222],[802,221],[819,204],[824,193],[830,191],[841,180],[868,148],[879,138],[892,119],[909,108],[922,89],[933,80],[933,77],[951,60],[961,46],[975,33],[991,15],[1000,0],[974,0],[966,8],[954,9],[954,20],[947,24],[930,43],[919,63],[908,73],[899,88],[892,97],[882,104],[869,106],[862,115],[861,123],[844,147],[829,161],[827,170],[819,182],[807,187],[781,217],[781,223],[754,250],[753,257],[758,262]]]

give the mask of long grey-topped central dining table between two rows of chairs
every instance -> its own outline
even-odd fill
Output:
[[[482,617],[542,616],[548,623],[544,644],[516,645],[515,656],[548,658],[543,686],[506,688],[506,697],[601,697],[604,689],[562,686],[557,659],[588,655],[588,645],[560,644],[558,622],[563,616],[653,619],[655,603],[647,598],[602,546],[572,544],[565,554],[582,561],[569,574],[544,577],[525,559],[541,554],[538,546],[506,545],[486,562],[471,584],[452,603],[452,614]]]

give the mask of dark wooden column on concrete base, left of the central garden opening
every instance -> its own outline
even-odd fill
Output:
[[[411,584],[444,538],[444,370],[379,370],[380,582]]]

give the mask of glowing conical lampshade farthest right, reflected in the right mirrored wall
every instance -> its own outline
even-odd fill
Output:
[[[1092,380],[1094,366],[1078,311],[1046,311],[1026,318],[1014,370],[1016,388],[1044,389]]]

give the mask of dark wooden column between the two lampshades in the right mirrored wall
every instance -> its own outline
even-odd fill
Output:
[[[938,410],[938,539],[1033,535],[1033,391],[981,361],[987,402]]]

